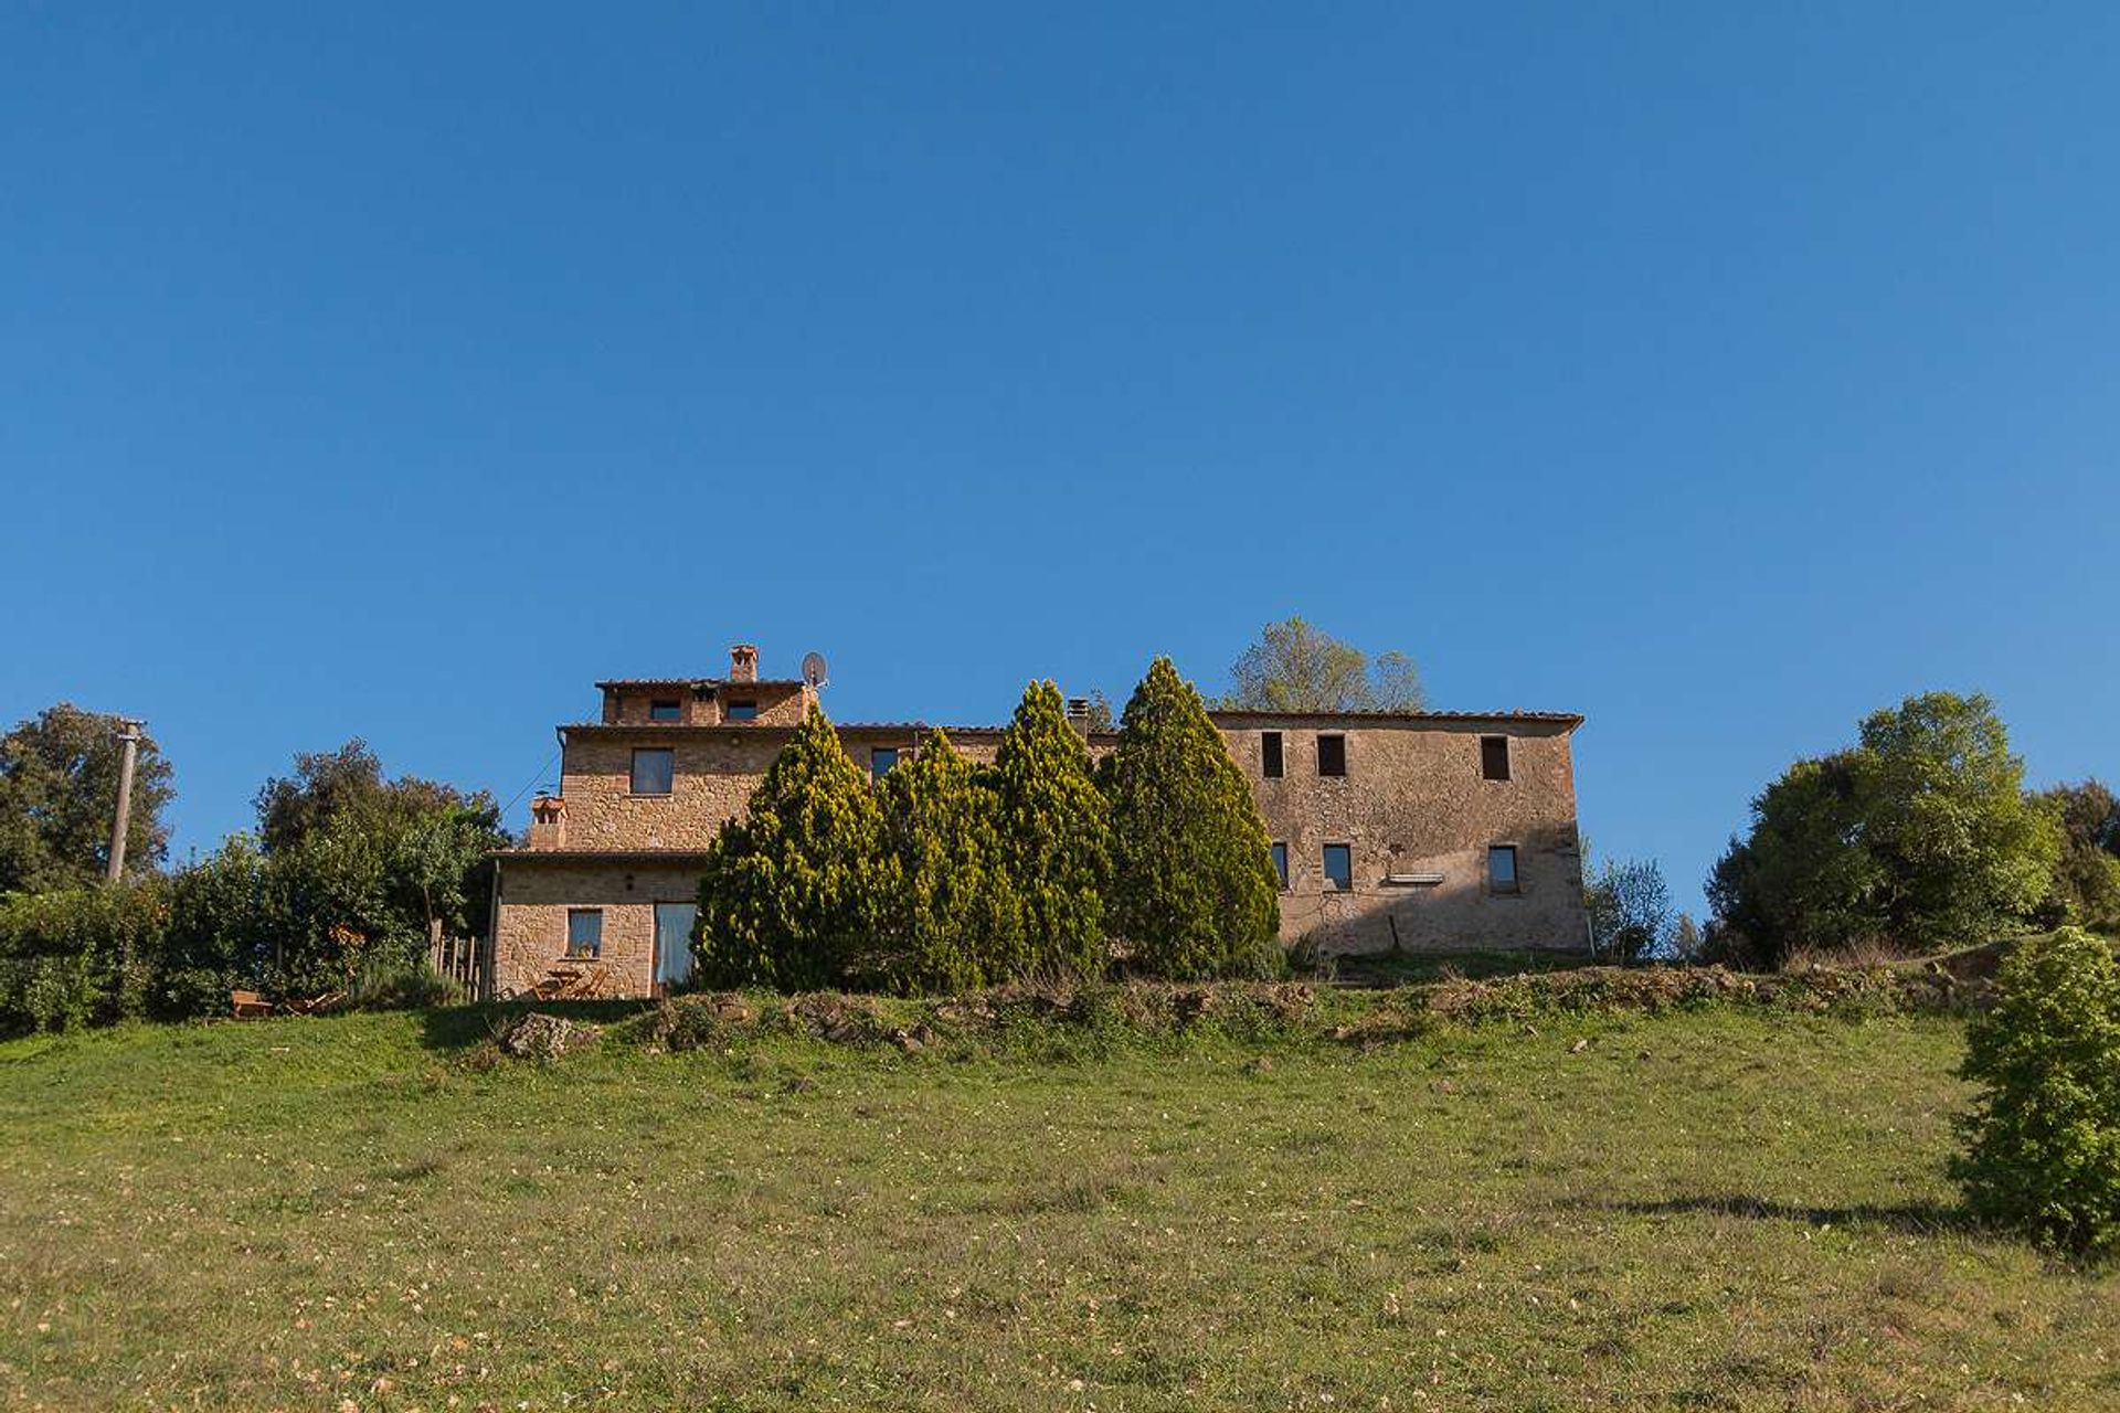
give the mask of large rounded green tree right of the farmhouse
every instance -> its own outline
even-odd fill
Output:
[[[1798,761],[1753,801],[1709,900],[1751,958],[1866,941],[1944,949],[2033,915],[2059,830],[2022,797],[2025,765],[1986,697],[1929,693],[1861,725],[1861,741]]]

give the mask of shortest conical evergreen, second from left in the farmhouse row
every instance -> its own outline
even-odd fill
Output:
[[[1026,970],[1024,909],[1001,847],[1001,801],[941,731],[878,784],[876,964],[895,991],[965,991]]]

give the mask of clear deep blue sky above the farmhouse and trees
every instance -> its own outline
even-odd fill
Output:
[[[11,4],[0,716],[182,856],[736,638],[992,720],[1302,612],[1694,905],[1906,693],[2112,780],[2120,11],[1743,8]]]

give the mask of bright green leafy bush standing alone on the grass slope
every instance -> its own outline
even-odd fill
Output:
[[[1967,1208],[2075,1254],[2120,1250],[2120,966],[2078,928],[2022,943],[1961,1074]]]

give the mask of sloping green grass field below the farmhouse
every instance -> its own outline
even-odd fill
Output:
[[[477,1034],[0,1044],[0,1407],[2120,1407],[2120,1275],[1955,1216],[1950,1019]]]

